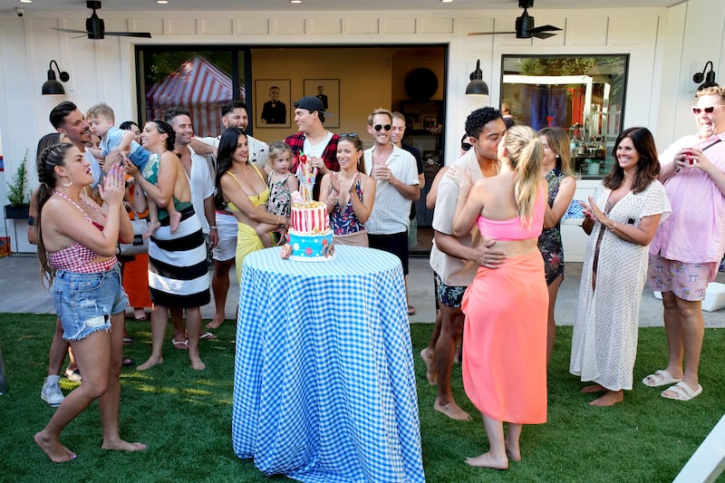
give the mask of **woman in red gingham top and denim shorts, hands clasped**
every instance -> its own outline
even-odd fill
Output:
[[[116,262],[119,238],[131,239],[131,221],[123,208],[124,172],[116,165],[103,181],[104,213],[82,188],[93,181],[91,167],[73,144],[54,144],[38,159],[38,258],[51,286],[53,306],[71,343],[83,383],[71,391],[35,443],[54,462],[75,459],[60,441],[61,431],[98,400],[103,449],[146,449],[121,440],[121,358],[124,310],[128,298]],[[111,330],[114,329],[114,330]]]

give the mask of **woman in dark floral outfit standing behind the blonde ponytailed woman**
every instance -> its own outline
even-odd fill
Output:
[[[544,215],[544,231],[538,237],[538,248],[544,256],[546,285],[549,290],[548,330],[546,333],[546,363],[551,360],[556,341],[554,308],[559,285],[564,280],[564,247],[561,242],[561,218],[574,198],[576,180],[571,169],[569,134],[561,128],[538,131],[544,144],[542,174],[549,183],[548,203]]]

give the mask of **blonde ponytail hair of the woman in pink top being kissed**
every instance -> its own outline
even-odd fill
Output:
[[[541,180],[544,146],[536,132],[528,126],[513,126],[501,141],[508,152],[511,167],[516,170],[514,198],[517,215],[527,224],[534,217],[534,205]]]

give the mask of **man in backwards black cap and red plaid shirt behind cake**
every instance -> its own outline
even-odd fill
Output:
[[[337,141],[340,136],[324,129],[324,104],[314,96],[304,96],[295,102],[295,122],[298,132],[287,136],[285,142],[292,148],[295,159],[289,167],[291,173],[297,170],[297,159],[304,152],[310,166],[317,169],[312,195],[320,199],[320,182],[329,171],[339,171],[337,162]]]

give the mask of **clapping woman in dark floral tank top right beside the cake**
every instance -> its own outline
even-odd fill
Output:
[[[365,174],[362,140],[343,134],[337,141],[339,172],[324,175],[320,201],[327,205],[334,243],[368,246],[365,222],[372,212],[375,181]]]

